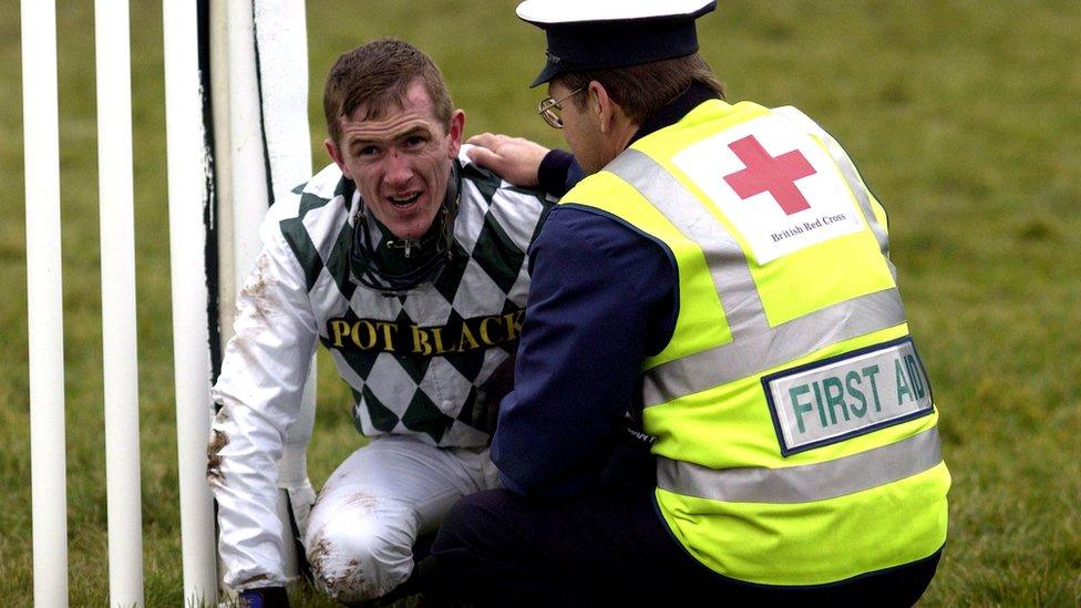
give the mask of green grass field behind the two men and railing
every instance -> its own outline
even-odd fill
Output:
[[[18,6],[0,0],[0,604],[31,604]],[[92,2],[59,2],[71,605],[107,598]],[[341,51],[395,35],[444,69],[467,130],[549,145],[542,37],[511,0],[308,2],[312,150]],[[950,537],[927,606],[1081,604],[1081,4],[724,0],[700,25],[729,97],[793,104],[890,214],[893,259],[941,410]],[[181,605],[161,2],[133,2],[147,606]],[[31,238],[33,238],[31,236]],[[321,360],[317,487],[361,441]],[[897,514],[903,517],[904,514]],[[297,605],[327,605],[300,591]]]

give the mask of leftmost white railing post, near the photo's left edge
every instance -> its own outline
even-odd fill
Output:
[[[22,0],[34,606],[68,606],[56,8]]]

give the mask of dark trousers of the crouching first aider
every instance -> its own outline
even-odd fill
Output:
[[[660,519],[649,487],[554,501],[494,490],[451,509],[430,568],[442,594],[477,606],[912,606],[940,553],[827,586],[752,586],[688,555]]]

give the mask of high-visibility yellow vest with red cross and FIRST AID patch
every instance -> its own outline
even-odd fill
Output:
[[[679,313],[647,359],[657,504],[721,575],[819,585],[927,557],[949,473],[889,262],[886,216],[792,107],[708,101],[562,204],[675,257]]]

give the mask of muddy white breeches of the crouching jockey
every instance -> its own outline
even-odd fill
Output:
[[[305,548],[318,586],[338,601],[381,597],[413,571],[413,544],[460,497],[498,487],[487,449],[435,447],[381,435],[323,485]]]

